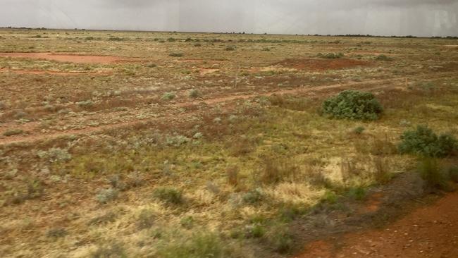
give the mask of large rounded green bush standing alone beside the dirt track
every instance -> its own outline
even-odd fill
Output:
[[[326,99],[323,112],[340,119],[377,120],[383,113],[383,107],[370,92],[345,90]]]

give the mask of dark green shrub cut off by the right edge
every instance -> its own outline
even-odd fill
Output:
[[[401,136],[398,145],[401,154],[417,154],[431,157],[444,157],[457,149],[457,139],[450,134],[436,135],[425,125],[419,125],[416,130],[408,130]]]

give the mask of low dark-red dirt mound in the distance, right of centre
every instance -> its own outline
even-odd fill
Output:
[[[354,59],[285,59],[273,65],[297,70],[338,70],[370,64],[368,61]]]

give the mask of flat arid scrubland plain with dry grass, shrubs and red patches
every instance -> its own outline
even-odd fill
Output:
[[[0,30],[0,256],[290,257],[391,221],[458,180],[457,60],[457,39]]]

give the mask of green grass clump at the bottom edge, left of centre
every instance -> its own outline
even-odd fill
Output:
[[[159,245],[157,254],[161,258],[227,257],[223,243],[213,233],[195,233],[184,240],[163,243]]]

